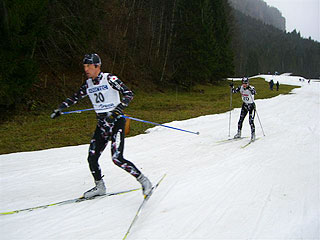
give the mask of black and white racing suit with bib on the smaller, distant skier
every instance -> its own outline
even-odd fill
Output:
[[[257,93],[253,86],[248,86],[244,88],[243,86],[239,86],[237,88],[232,88],[232,93],[240,92],[242,97],[242,108],[240,113],[240,119],[238,122],[238,130],[241,131],[242,123],[244,118],[247,116],[249,112],[249,124],[251,127],[251,134],[255,133],[255,126],[254,126],[254,117],[255,117],[255,108],[256,105],[254,103],[254,95]]]

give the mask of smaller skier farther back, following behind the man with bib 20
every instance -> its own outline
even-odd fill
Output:
[[[249,85],[249,79],[244,77],[242,78],[242,85],[234,88],[233,83],[230,83],[231,92],[237,93],[240,92],[242,96],[242,108],[241,108],[241,114],[240,119],[238,122],[238,132],[234,136],[234,138],[241,138],[241,129],[242,129],[242,123],[244,118],[247,116],[247,113],[249,112],[249,124],[251,127],[251,141],[255,141],[256,134],[255,134],[255,126],[254,126],[254,113],[256,105],[254,103],[254,95],[257,93],[254,86]]]

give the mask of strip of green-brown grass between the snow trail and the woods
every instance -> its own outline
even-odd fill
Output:
[[[190,92],[179,89],[165,93],[135,92],[135,98],[126,109],[126,114],[147,121],[166,123],[184,120],[201,115],[226,112],[230,108],[229,82],[218,86],[202,85]],[[235,85],[240,82],[235,82]],[[279,94],[288,94],[293,86],[281,85],[279,91],[270,91],[263,79],[254,79],[250,84],[255,86],[255,99],[270,98]],[[77,89],[75,89],[77,90]],[[61,99],[61,102],[64,99]],[[233,107],[242,104],[239,94],[233,95]],[[57,104],[59,105],[59,104]],[[68,110],[91,108],[88,101],[79,103]],[[259,105],[257,105],[259,109]],[[54,147],[88,144],[96,126],[95,113],[63,115],[50,119],[53,109],[25,112],[15,115],[0,125],[0,154],[35,151]],[[130,136],[144,133],[153,125],[131,121]]]

